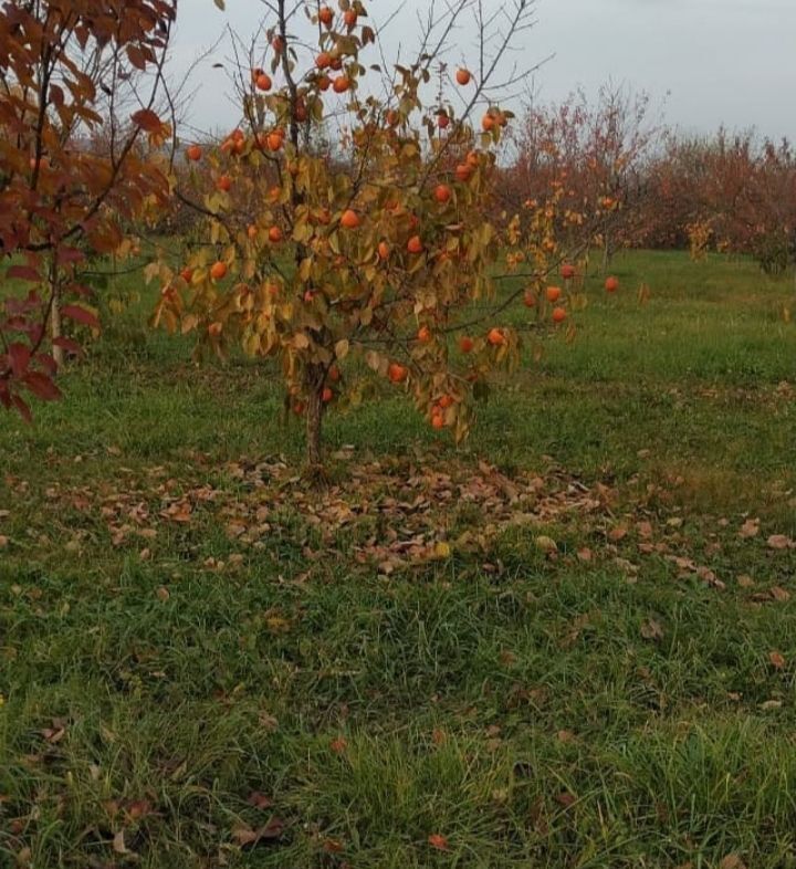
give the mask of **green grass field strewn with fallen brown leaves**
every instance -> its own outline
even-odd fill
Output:
[[[321,492],[145,300],[0,417],[0,867],[796,867],[793,276],[615,270],[463,448],[333,411]]]

